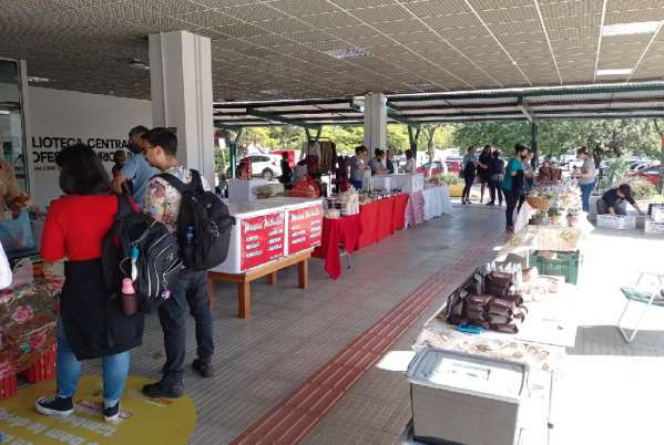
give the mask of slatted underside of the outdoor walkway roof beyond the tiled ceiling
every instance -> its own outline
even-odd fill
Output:
[[[388,122],[539,121],[664,116],[664,82],[481,90],[387,96]],[[217,126],[361,125],[364,97],[217,102]]]

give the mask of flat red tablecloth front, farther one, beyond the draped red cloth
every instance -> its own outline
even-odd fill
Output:
[[[359,219],[362,234],[356,247],[361,249],[380,242],[384,238],[395,235],[396,230],[402,229],[406,203],[408,203],[408,195],[401,194],[360,206]]]

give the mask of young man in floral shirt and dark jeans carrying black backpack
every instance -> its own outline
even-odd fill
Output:
[[[193,178],[192,170],[177,162],[177,137],[167,128],[153,128],[145,135],[145,158],[160,172],[173,175],[184,184]],[[201,176],[203,188],[210,185]],[[155,220],[163,222],[170,230],[177,229],[177,218],[182,195],[168,182],[160,176],[150,179],[145,197],[144,211]],[[143,386],[143,394],[149,397],[176,399],[184,393],[185,359],[185,317],[186,306],[196,322],[196,343],[198,358],[192,368],[204,377],[214,375],[212,355],[214,340],[212,332],[212,313],[207,304],[207,279],[205,271],[182,269],[175,282],[171,284],[171,298],[159,308],[159,318],[164,330],[164,348],[166,363],[162,379],[156,383]]]

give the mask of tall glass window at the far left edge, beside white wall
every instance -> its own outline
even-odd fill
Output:
[[[28,190],[19,64],[0,59],[0,147],[14,169],[19,187]]]

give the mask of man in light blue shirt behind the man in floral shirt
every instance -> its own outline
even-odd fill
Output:
[[[122,194],[122,184],[130,183],[132,189],[132,199],[136,206],[143,208],[145,203],[145,190],[151,177],[159,174],[156,168],[151,167],[145,161],[145,141],[143,136],[147,128],[139,125],[130,130],[127,148],[132,152],[132,158],[129,159],[120,174],[113,178],[112,188],[118,195]]]

